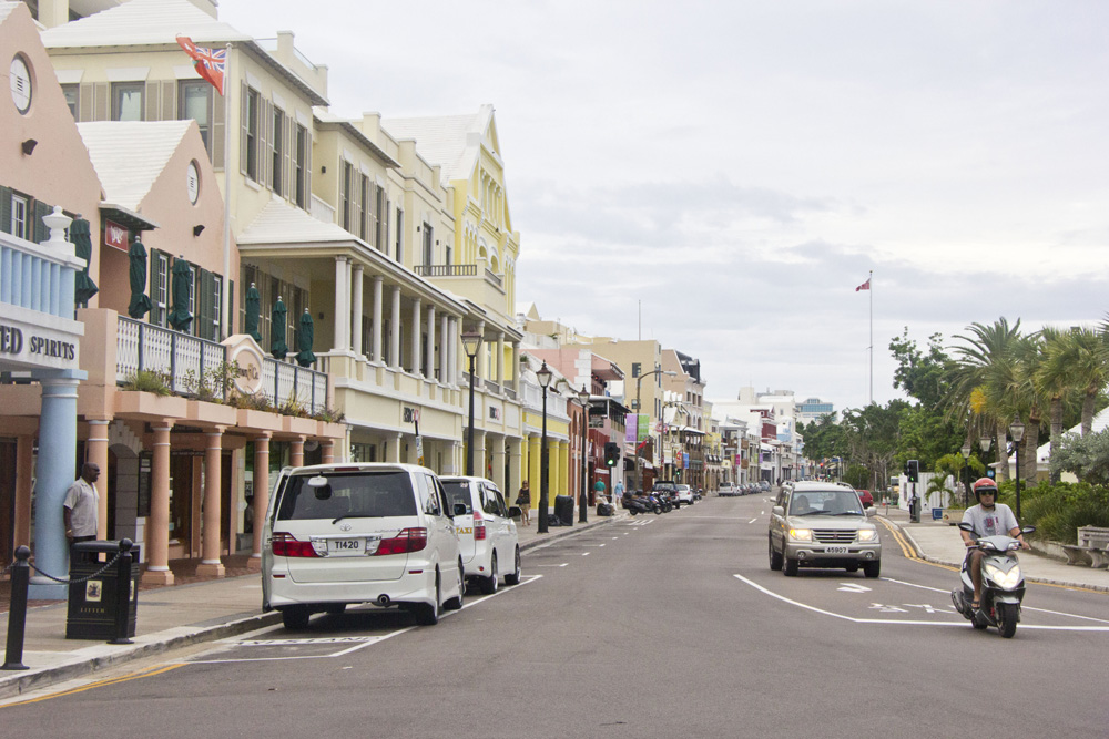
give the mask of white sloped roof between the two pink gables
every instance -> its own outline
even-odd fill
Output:
[[[139,211],[192,124],[192,120],[78,123],[104,199]]]

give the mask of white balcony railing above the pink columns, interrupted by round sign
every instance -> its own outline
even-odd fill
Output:
[[[227,348],[123,316],[119,317],[115,352],[115,382],[124,384],[139,372],[161,373],[174,394],[195,396],[203,381],[212,392],[226,400],[223,365]],[[262,362],[262,389],[275,408],[295,401],[308,414],[327,408],[327,374],[291,362],[265,357]]]

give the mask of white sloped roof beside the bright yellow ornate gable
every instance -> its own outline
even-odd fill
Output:
[[[450,183],[469,178],[491,122],[492,105],[487,104],[476,114],[388,119],[381,127],[395,138],[414,138],[420,156],[438,164],[442,182]]]

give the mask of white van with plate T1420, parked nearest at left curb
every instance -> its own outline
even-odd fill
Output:
[[[262,605],[285,628],[350,604],[399,606],[420,625],[461,608],[454,515],[439,479],[414,464],[282,470],[263,532]]]

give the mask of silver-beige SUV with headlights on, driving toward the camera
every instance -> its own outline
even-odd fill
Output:
[[[882,542],[855,491],[797,482],[777,495],[770,516],[770,568],[793,577],[798,567],[843,567],[867,577],[882,571]]]

